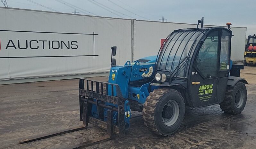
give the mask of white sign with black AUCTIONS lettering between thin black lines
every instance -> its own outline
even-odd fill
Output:
[[[0,39],[0,58],[98,56],[94,54],[94,39],[98,35],[94,32],[0,31],[5,32],[5,38]]]

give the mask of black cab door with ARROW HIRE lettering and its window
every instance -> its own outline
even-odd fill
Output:
[[[217,104],[221,29],[212,30],[195,51],[188,88],[193,107]]]

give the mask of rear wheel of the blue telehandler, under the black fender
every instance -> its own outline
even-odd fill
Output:
[[[243,82],[237,82],[235,86],[227,86],[225,98],[219,105],[221,110],[226,113],[239,114],[243,111],[246,101],[246,86]]]

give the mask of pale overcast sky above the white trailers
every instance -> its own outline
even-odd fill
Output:
[[[9,7],[168,22],[247,27],[256,34],[256,0],[6,0]],[[4,6],[0,3],[0,6]],[[112,9],[112,10],[110,10]]]

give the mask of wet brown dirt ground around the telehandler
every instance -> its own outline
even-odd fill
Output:
[[[241,76],[249,82],[241,114],[225,114],[219,105],[187,107],[180,129],[171,137],[160,137],[146,128],[141,113],[134,113],[124,138],[115,136],[88,148],[255,148],[256,67],[245,67]],[[93,79],[106,81],[107,77]],[[17,144],[30,136],[81,125],[79,120],[78,79],[0,86],[0,148],[64,148],[106,134],[90,125],[73,133]]]

